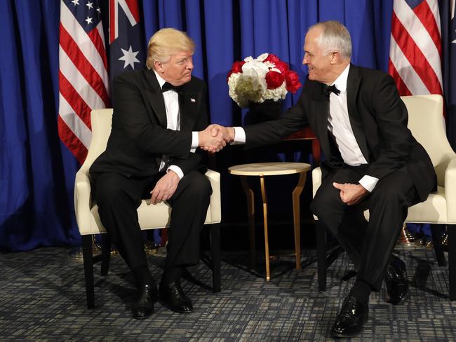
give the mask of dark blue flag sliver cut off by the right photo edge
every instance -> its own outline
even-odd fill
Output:
[[[443,95],[445,97],[448,140],[456,151],[456,15],[455,0],[442,0]]]

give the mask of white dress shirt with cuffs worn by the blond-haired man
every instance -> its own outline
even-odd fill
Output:
[[[157,81],[159,81],[160,88],[163,87],[163,84],[166,81],[161,78],[161,76],[154,70]],[[165,102],[166,109],[166,128],[170,130],[180,130],[180,109],[179,109],[179,95],[175,90],[168,90],[163,94],[163,101]],[[192,147],[190,152],[194,153],[196,148],[199,146],[199,136],[198,132],[192,132]],[[159,167],[159,171],[163,170],[163,167],[166,165],[166,160],[162,159]],[[179,179],[184,177],[184,172],[177,165],[169,165],[166,169],[166,172],[173,170]]]

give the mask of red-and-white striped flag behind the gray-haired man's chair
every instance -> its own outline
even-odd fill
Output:
[[[437,0],[394,0],[389,74],[401,95],[443,94]]]

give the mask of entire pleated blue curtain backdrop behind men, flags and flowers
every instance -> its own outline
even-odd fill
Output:
[[[162,27],[192,36],[194,74],[208,83],[212,121],[232,125],[241,122],[226,84],[234,60],[275,53],[303,82],[304,34],[315,22],[347,25],[354,63],[386,71],[392,2],[147,0],[141,5],[147,39]],[[80,242],[73,209],[79,165],[57,132],[59,16],[58,0],[0,1],[1,249]],[[298,95],[289,95],[286,106]]]

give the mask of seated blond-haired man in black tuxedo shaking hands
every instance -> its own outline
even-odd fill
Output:
[[[112,132],[90,167],[102,224],[138,283],[132,313],[139,319],[154,312],[159,293],[171,310],[193,310],[180,278],[186,266],[199,262],[212,193],[199,146],[218,151],[225,144],[206,129],[206,84],[192,76],[194,47],[184,32],[161,29],[149,41],[147,69],[114,78]],[[173,207],[159,291],[136,212],[147,197],[152,205],[166,200]]]

